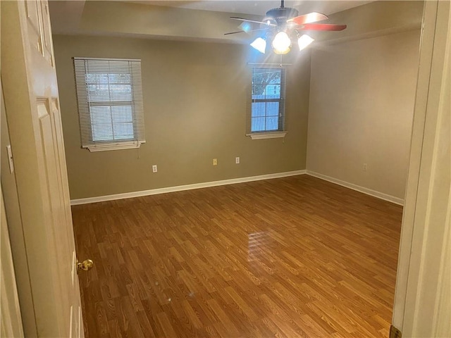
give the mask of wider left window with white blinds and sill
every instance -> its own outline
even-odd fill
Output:
[[[74,58],[82,148],[137,148],[145,142],[141,61]]]

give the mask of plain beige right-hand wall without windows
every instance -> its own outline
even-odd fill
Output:
[[[317,46],[307,170],[404,199],[418,63],[419,30]]]

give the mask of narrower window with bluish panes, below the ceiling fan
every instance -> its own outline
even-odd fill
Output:
[[[252,69],[247,120],[252,139],[285,136],[285,68]]]

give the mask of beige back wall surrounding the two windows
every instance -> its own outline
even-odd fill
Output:
[[[287,136],[252,140],[245,136],[247,62],[258,60],[248,46],[55,35],[54,50],[71,199],[305,169],[308,52],[283,59],[293,63]],[[80,148],[73,56],[142,59],[147,143],[139,150]]]

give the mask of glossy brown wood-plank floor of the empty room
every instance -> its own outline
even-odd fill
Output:
[[[307,175],[73,206],[87,337],[388,337],[402,207]]]

